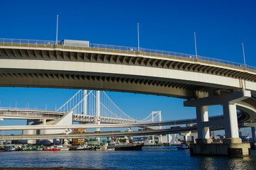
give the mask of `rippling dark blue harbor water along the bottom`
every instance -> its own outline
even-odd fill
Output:
[[[189,149],[143,147],[142,151],[0,152],[0,167],[89,169],[256,169],[252,157],[191,157]]]

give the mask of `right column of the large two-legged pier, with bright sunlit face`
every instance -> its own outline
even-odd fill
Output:
[[[224,103],[223,115],[224,115],[224,120],[226,122],[225,135],[226,135],[226,138],[231,139],[228,142],[230,143],[242,142],[242,140],[239,138],[239,133],[238,133],[238,115],[236,113],[235,103],[233,102]]]

